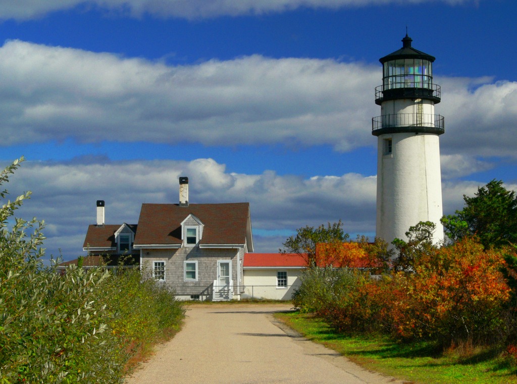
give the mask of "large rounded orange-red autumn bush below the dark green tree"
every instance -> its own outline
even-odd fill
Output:
[[[493,341],[503,324],[509,287],[502,256],[472,238],[422,257],[408,279],[410,308],[402,333],[444,341]]]

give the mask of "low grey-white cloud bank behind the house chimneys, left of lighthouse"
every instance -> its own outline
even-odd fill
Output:
[[[48,255],[57,255],[60,248],[71,259],[83,253],[98,199],[106,202],[108,224],[136,223],[142,203],[178,202],[179,176],[189,177],[191,203],[249,202],[258,233],[256,251],[278,251],[286,234],[305,225],[342,219],[347,232],[375,228],[376,179],[358,174],[308,179],[273,171],[235,174],[212,159],[25,162],[7,187],[11,198],[32,190],[17,216],[43,219]]]

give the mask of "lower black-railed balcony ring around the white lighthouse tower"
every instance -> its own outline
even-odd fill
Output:
[[[441,115],[395,113],[372,118],[372,135],[413,132],[441,135],[445,132],[445,119]]]

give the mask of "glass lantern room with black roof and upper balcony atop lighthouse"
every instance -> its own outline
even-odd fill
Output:
[[[412,41],[406,34],[401,49],[379,59],[383,65],[383,85],[375,88],[377,105],[397,99],[440,102],[440,86],[433,84],[435,57],[411,47]]]

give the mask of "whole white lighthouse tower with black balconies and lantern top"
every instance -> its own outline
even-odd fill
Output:
[[[411,47],[412,41],[406,34],[402,49],[379,59],[383,85],[375,88],[375,103],[381,105],[381,116],[372,119],[377,136],[376,236],[388,243],[396,237],[405,240],[410,226],[431,221],[438,243],[444,238],[439,147],[444,117],[434,114],[441,96],[433,84],[435,58]]]

